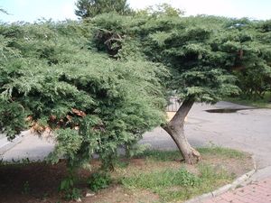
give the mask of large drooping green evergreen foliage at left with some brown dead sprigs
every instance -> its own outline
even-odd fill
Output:
[[[99,155],[109,167],[117,149],[164,122],[163,66],[111,60],[91,51],[78,23],[1,25],[0,130],[54,131],[49,159],[70,168]]]

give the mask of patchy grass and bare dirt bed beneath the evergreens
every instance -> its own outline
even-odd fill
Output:
[[[220,147],[200,148],[202,159],[195,165],[183,163],[176,151],[145,151],[132,159],[117,161],[111,171],[111,184],[96,192],[88,189],[86,180],[96,171],[78,172],[77,187],[82,202],[182,202],[217,189],[253,168],[248,153]],[[0,166],[0,202],[69,202],[61,198],[58,186],[67,170],[64,161],[50,165],[44,162],[2,164]],[[89,197],[85,197],[89,193]]]

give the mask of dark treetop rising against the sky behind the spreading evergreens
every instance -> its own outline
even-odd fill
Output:
[[[75,14],[81,18],[110,12],[122,15],[132,12],[126,0],[78,0],[75,5],[77,6]]]

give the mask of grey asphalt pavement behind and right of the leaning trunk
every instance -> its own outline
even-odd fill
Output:
[[[235,113],[209,113],[210,109],[243,109]],[[271,109],[219,102],[214,106],[195,104],[186,119],[185,134],[192,146],[218,145],[253,154],[257,167],[271,166]],[[146,133],[141,143],[155,149],[175,149],[164,129]]]

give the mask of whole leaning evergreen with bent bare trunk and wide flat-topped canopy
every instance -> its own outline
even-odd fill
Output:
[[[246,89],[259,95],[270,89],[270,42],[259,38],[258,22],[183,17],[161,9],[133,16],[102,14],[90,23],[95,27],[92,41],[98,51],[115,59],[144,58],[170,70],[171,78],[164,82],[182,100],[182,106],[164,129],[190,163],[199,159],[199,153],[187,142],[183,125],[194,102],[213,104],[246,94]]]

